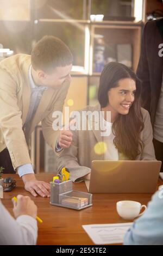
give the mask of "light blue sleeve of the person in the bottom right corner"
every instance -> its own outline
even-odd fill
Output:
[[[124,245],[163,245],[163,186],[124,236]]]

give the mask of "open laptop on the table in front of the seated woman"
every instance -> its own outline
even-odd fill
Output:
[[[161,161],[92,161],[90,193],[154,193]]]

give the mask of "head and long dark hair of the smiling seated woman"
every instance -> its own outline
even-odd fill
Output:
[[[98,101],[103,111],[111,111],[114,144],[130,160],[135,160],[143,147],[140,94],[141,81],[131,69],[114,62],[105,66],[99,82]]]

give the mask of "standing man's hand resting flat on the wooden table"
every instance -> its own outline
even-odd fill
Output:
[[[50,197],[50,184],[45,181],[36,180],[34,174],[25,174],[22,176],[24,188],[34,197],[38,194],[41,197]]]

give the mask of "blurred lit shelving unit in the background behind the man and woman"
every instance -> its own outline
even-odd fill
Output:
[[[117,61],[123,60],[121,48],[128,47],[128,63],[136,71],[146,0],[11,0],[10,3],[0,0],[0,4],[3,9],[0,11],[3,27],[0,44],[4,48],[10,48],[14,54],[30,54],[43,35],[58,36],[70,47],[74,63],[65,106],[71,100],[71,111],[97,102],[101,74],[95,69],[98,37],[98,46],[104,47],[103,65],[110,58],[109,46],[115,49]],[[35,170],[46,171],[45,156],[52,157],[52,154],[45,152],[40,125],[31,141]]]

